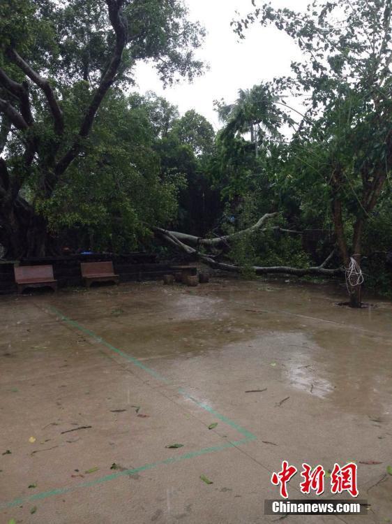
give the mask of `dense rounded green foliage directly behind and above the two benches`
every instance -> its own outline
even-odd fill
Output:
[[[176,213],[180,176],[164,177],[153,151],[153,124],[121,94],[106,99],[84,157],[49,201],[37,204],[52,231],[86,229],[93,249],[134,249],[150,228]],[[99,182],[99,183],[97,183]]]

